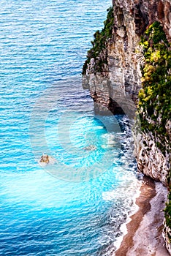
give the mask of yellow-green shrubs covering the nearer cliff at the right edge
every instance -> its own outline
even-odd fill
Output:
[[[142,89],[139,93],[138,113],[142,131],[151,131],[161,152],[170,154],[170,135],[166,129],[171,116],[171,50],[170,43],[159,22],[145,31],[140,45],[144,52]],[[171,170],[168,175],[170,195],[165,208],[165,219],[171,228]]]

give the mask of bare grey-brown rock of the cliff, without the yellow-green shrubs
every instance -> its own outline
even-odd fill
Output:
[[[104,112],[108,109],[114,114],[130,114],[132,110],[135,111],[138,94],[142,88],[142,67],[145,61],[145,49],[140,45],[140,37],[156,20],[163,26],[167,41],[170,42],[170,0],[113,1],[113,26],[110,37],[105,38],[104,47],[97,55],[94,54],[96,47],[91,49],[87,67],[83,71],[83,86],[89,86],[97,111]],[[107,22],[111,23],[111,19]],[[94,45],[98,45],[97,38]],[[148,124],[153,123],[151,116],[144,118],[148,119]],[[163,125],[163,122],[161,123],[157,125]],[[166,126],[168,125],[169,120]],[[157,142],[159,141],[156,135],[148,132],[148,129],[137,135],[137,164],[142,173],[167,185],[170,152],[163,154]]]

